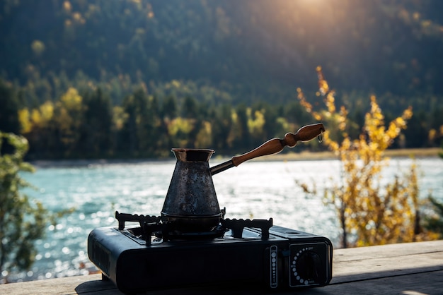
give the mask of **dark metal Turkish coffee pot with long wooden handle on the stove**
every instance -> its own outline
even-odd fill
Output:
[[[183,232],[211,231],[217,227],[224,212],[220,210],[212,175],[264,155],[281,152],[285,146],[294,148],[299,141],[318,137],[325,131],[323,124],[301,127],[297,133],[286,133],[284,138],[272,138],[258,148],[229,161],[209,168],[209,159],[214,150],[173,148],[176,167],[161,210],[162,222],[172,230]]]

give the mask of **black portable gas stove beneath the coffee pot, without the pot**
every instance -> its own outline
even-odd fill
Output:
[[[127,216],[116,212],[119,227],[88,236],[89,259],[124,293],[205,284],[297,289],[332,278],[326,237],[273,226],[272,219],[222,219],[208,233],[177,233],[160,217]],[[125,228],[125,220],[139,227]]]

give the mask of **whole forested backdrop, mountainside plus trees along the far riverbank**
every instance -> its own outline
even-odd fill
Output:
[[[4,0],[0,130],[25,136],[29,159],[232,155],[314,123],[297,90],[320,105],[321,66],[355,134],[375,95],[386,121],[413,107],[392,148],[440,146],[442,11],[432,0]]]

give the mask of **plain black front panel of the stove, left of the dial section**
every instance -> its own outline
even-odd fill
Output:
[[[129,292],[239,282],[263,286],[269,274],[266,249],[267,243],[200,243],[125,251],[117,261],[117,286]]]

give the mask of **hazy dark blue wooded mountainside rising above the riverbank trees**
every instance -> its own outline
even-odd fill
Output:
[[[412,0],[4,0],[0,73],[39,102],[88,81],[115,102],[139,83],[284,102],[316,90],[318,65],[345,93],[442,95],[442,11]]]

